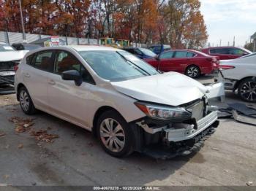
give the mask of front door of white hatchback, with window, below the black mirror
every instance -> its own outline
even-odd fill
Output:
[[[77,70],[83,77],[80,86],[74,81],[67,81],[61,78],[61,73],[68,70]],[[77,125],[88,127],[86,122],[86,111],[89,111],[89,98],[91,86],[94,86],[94,79],[85,67],[72,55],[64,50],[56,51],[54,73],[48,77],[48,101],[50,111]]]

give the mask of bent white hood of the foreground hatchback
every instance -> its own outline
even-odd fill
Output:
[[[120,93],[139,101],[149,101],[170,106],[187,104],[202,98],[206,87],[195,79],[176,72],[140,77],[123,82],[111,82]]]

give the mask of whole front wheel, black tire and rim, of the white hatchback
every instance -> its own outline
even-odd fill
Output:
[[[132,130],[118,112],[109,110],[97,120],[97,137],[105,152],[124,157],[133,152]]]

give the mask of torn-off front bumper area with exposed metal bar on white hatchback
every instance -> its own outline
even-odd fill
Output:
[[[217,111],[209,109],[205,117],[189,122],[152,126],[136,122],[137,151],[156,159],[189,155],[203,146],[203,141],[218,127]],[[139,133],[139,135],[138,135]]]

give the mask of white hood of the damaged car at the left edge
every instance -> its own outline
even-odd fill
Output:
[[[20,61],[29,50],[0,52],[0,62]]]

